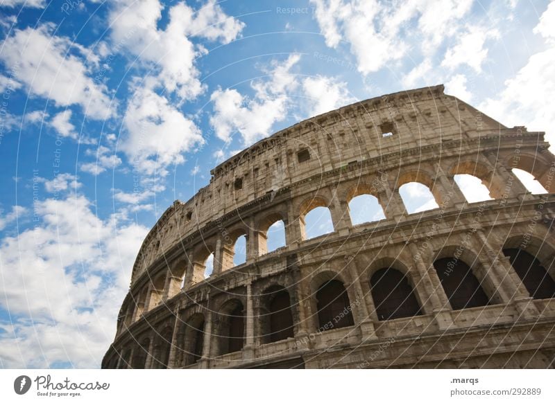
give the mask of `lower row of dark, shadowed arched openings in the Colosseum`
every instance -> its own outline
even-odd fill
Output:
[[[555,279],[538,258],[518,248],[503,249],[513,269],[526,287],[532,298],[555,298]],[[468,264],[470,263],[470,265]],[[464,310],[495,303],[493,290],[486,286],[487,272],[479,273],[472,262],[461,258],[438,258],[433,263],[441,289],[445,293],[452,310]],[[325,332],[355,325],[356,303],[353,304],[349,287],[345,287],[339,276],[331,275],[321,278],[315,285],[314,307],[318,329]],[[377,321],[389,321],[424,314],[422,292],[417,292],[420,285],[415,283],[410,272],[391,265],[373,271],[368,279],[371,303]],[[298,331],[298,305],[291,289],[279,285],[269,287],[258,297],[255,305],[256,337],[259,343],[273,343],[295,337]],[[430,312],[427,312],[430,313]],[[214,319],[214,317],[212,317]],[[360,319],[360,317],[359,317]],[[181,319],[179,319],[181,320]],[[206,340],[216,340],[212,344],[210,355],[219,356],[237,352],[246,343],[246,309],[241,298],[232,298],[221,305],[212,330],[206,332],[205,315],[201,312],[191,314],[180,324],[176,340],[172,338],[172,328],[164,328],[158,334],[151,347],[151,339],[142,339],[135,347],[128,347],[121,352],[119,364],[112,363],[112,368],[145,368],[146,355],[153,355],[151,368],[166,368],[169,365],[171,348],[176,348],[176,366],[195,364],[205,355]],[[131,359],[131,351],[133,358]]]

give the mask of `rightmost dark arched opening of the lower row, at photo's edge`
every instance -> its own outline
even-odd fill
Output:
[[[532,298],[555,298],[555,281],[538,259],[522,249],[503,249],[503,253]]]

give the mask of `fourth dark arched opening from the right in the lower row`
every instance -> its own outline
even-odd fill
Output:
[[[328,280],[318,288],[316,309],[321,332],[355,324],[347,290],[339,280]]]

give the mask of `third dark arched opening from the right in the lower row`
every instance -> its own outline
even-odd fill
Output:
[[[408,278],[400,271],[379,269],[370,278],[370,288],[380,321],[422,314]]]

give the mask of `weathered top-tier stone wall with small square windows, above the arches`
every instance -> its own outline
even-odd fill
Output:
[[[275,133],[221,163],[211,171],[208,186],[188,202],[176,201],[148,233],[132,283],[177,242],[268,192],[354,161],[506,129],[443,89],[439,85],[357,102]],[[393,135],[383,136],[387,132]]]

